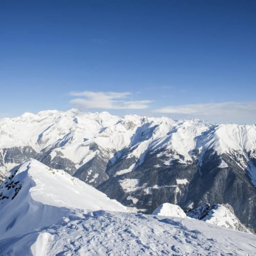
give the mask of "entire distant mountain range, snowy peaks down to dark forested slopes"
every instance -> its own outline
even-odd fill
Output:
[[[228,203],[256,228],[256,125],[78,110],[0,120],[0,177],[35,158],[130,210]]]

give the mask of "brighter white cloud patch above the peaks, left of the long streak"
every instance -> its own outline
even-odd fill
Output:
[[[124,109],[147,109],[152,100],[131,100],[130,92],[71,92],[71,96],[76,97],[70,100],[81,109],[106,109],[106,110],[124,110]]]

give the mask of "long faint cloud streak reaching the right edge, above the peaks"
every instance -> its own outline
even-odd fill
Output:
[[[154,112],[236,122],[237,120],[256,119],[256,101],[170,105],[156,109]]]

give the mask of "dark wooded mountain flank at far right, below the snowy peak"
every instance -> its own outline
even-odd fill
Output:
[[[220,158],[217,154],[206,153],[200,167],[201,175],[197,174],[189,184],[187,200],[194,202],[194,207],[203,203],[228,203],[242,223],[255,229],[256,188],[246,170],[238,165],[236,158],[227,154],[223,154],[221,158],[228,167],[219,168]]]

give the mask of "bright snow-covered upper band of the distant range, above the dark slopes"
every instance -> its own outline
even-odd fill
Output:
[[[17,118],[3,118],[0,119],[0,127],[0,148],[31,146],[36,152],[86,141],[94,141],[103,148],[118,151],[145,139],[150,139],[147,146],[171,146],[187,159],[190,159],[191,150],[201,146],[214,148],[219,154],[228,152],[230,148],[243,152],[256,148],[256,125],[212,125],[198,119],[175,121],[166,117],[137,115],[120,118],[107,112],[83,113],[72,109],[67,112],[41,111],[38,114],[25,113]],[[197,145],[199,139],[200,146]],[[74,155],[70,155],[70,159]],[[81,161],[81,158],[75,159],[76,162]]]

